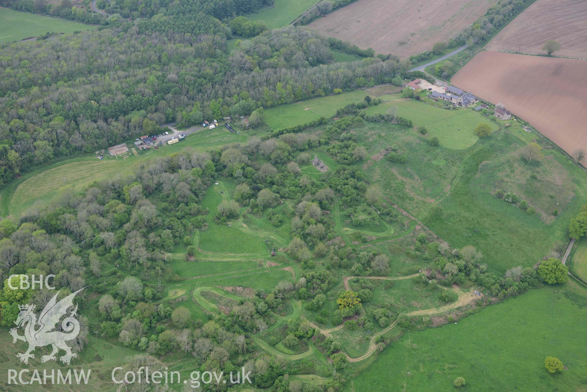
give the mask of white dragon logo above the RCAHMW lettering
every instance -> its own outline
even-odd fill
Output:
[[[35,313],[35,305],[20,305],[21,312],[18,313],[18,317],[14,322],[18,327],[12,328],[10,334],[12,335],[12,343],[16,343],[16,340],[22,340],[23,342],[29,343],[29,348],[25,353],[16,354],[16,356],[23,363],[28,363],[29,358],[35,358],[35,354],[31,354],[36,347],[44,347],[49,344],[52,346],[53,352],[49,355],[43,355],[41,362],[56,361],[55,354],[59,349],[65,350],[65,355],[59,359],[66,364],[69,364],[72,357],[77,357],[76,353],[72,353],[72,350],[65,343],[69,340],[76,339],[79,334],[80,325],[74,316],[76,316],[77,305],[72,312],[69,313],[68,317],[65,317],[61,322],[61,327],[65,332],[53,331],[55,325],[59,323],[62,316],[65,316],[69,307],[73,306],[73,298],[77,293],[83,289],[77,290],[75,293],[71,293],[59,302],[57,302],[57,296],[59,292],[51,298],[51,300],[45,305],[45,309],[39,315],[37,320]],[[61,290],[59,290],[61,291]],[[25,326],[25,334],[21,336],[17,333],[19,327]],[[38,326],[38,329],[35,327]]]

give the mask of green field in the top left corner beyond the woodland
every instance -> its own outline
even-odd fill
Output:
[[[67,21],[52,16],[14,11],[0,8],[0,43],[15,42],[21,39],[50,33],[73,33],[74,31],[95,29],[96,26]]]

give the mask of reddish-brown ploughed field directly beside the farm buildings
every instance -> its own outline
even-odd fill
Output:
[[[451,82],[503,103],[568,153],[587,150],[587,60],[481,52]]]

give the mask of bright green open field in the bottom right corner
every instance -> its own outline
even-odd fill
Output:
[[[571,290],[570,284],[563,290]],[[457,325],[406,331],[345,390],[451,391],[461,376],[466,391],[584,391],[587,309],[560,290],[532,290]],[[546,356],[558,357],[568,369],[549,374]]]

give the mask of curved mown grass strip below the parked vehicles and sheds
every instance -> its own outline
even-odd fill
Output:
[[[191,134],[181,143],[163,145],[159,150],[151,150],[138,157],[129,151],[126,159],[105,157],[99,160],[95,156],[87,156],[50,164],[23,175],[4,188],[0,194],[0,214],[18,217],[36,202],[50,202],[63,187],[69,186],[79,191],[93,181],[133,173],[141,163],[148,160],[168,156],[184,149],[206,151],[218,148],[226,143],[245,141],[247,135],[245,132],[237,135],[220,127],[212,131]]]

